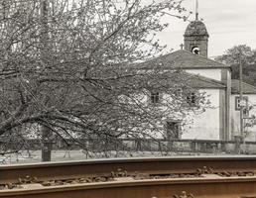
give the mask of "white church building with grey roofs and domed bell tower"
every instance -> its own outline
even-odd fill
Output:
[[[192,123],[183,129],[179,127],[181,121],[169,122],[167,133],[176,134],[173,137],[179,139],[234,140],[235,136],[240,136],[246,141],[255,142],[256,112],[253,105],[256,104],[256,87],[242,83],[244,133],[241,134],[239,81],[232,80],[229,65],[208,57],[208,39],[207,29],[198,20],[196,13],[195,20],[189,24],[184,34],[184,49],[157,58],[165,58],[172,62],[172,67],[201,77],[201,83],[194,88],[205,92],[212,106],[201,114],[193,115]]]

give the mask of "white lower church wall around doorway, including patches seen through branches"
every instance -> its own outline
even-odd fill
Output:
[[[219,89],[200,89],[199,92],[204,93],[210,101],[210,108],[206,108],[204,112],[188,112],[189,116],[182,122],[181,139],[190,140],[220,140],[220,123],[219,123]],[[144,97],[142,97],[144,98]],[[164,101],[169,99],[169,96],[163,95]],[[143,99],[144,102],[145,98]],[[161,106],[157,108],[162,108]],[[163,115],[162,124],[159,123],[159,131],[148,130],[147,132],[155,138],[163,138],[166,133],[165,124],[168,121],[169,115]],[[177,112],[177,115],[172,115],[173,121],[182,120],[182,116]],[[186,125],[185,125],[186,124]]]

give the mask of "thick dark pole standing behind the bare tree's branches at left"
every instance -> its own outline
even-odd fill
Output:
[[[49,27],[48,27],[48,9],[49,9],[49,2],[48,0],[41,0],[41,59],[44,64],[44,68],[47,67],[47,59],[48,59],[48,47],[49,47]],[[44,72],[44,70],[43,70]],[[45,105],[45,104],[43,104]],[[42,161],[51,161],[51,152],[53,147],[52,141],[52,131],[42,125]]]

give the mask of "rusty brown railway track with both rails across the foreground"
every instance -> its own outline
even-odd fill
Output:
[[[256,157],[161,157],[0,166],[6,198],[256,198]]]

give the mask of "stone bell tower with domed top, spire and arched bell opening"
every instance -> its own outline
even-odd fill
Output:
[[[205,25],[198,20],[198,0],[196,0],[195,20],[189,24],[184,35],[185,49],[207,57],[208,38]]]

